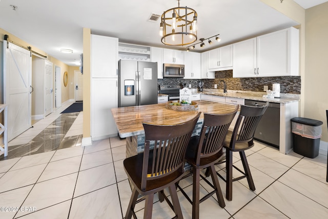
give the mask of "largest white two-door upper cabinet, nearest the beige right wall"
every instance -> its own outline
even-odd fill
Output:
[[[299,35],[291,27],[233,44],[234,77],[299,75]]]

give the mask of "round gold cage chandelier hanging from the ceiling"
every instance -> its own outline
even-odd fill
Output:
[[[197,40],[197,12],[186,7],[164,11],[160,22],[161,42],[169,46],[185,46]]]

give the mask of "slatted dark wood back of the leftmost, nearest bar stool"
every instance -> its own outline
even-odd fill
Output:
[[[149,181],[184,172],[187,145],[200,113],[192,120],[178,125],[142,124],[145,129],[145,151],[141,190],[146,189]]]

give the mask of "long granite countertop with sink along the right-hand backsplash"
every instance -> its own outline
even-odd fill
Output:
[[[264,101],[279,104],[288,104],[292,102],[298,102],[300,100],[299,94],[286,94],[281,93],[280,98],[266,98],[263,95],[267,95],[267,92],[254,92],[254,91],[238,91],[238,90],[228,90],[228,93],[223,93],[220,89],[203,89],[203,91],[197,91],[197,89],[192,90],[193,93],[201,93],[215,96],[226,96],[241,99],[251,99],[254,101]]]

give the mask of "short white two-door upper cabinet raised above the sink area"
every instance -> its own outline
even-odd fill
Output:
[[[223,46],[209,51],[209,69],[232,69],[232,45]]]

